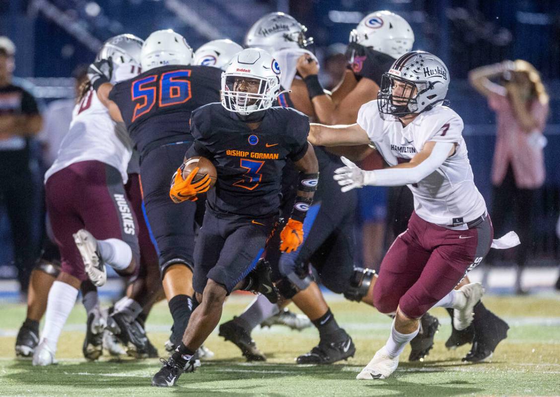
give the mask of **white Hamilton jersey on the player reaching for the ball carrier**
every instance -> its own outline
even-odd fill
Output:
[[[403,127],[389,115],[381,118],[377,101],[360,108],[358,124],[362,127],[379,153],[389,165],[408,162],[426,142],[449,142],[455,145],[455,154],[422,181],[409,184],[414,195],[414,210],[420,218],[449,227],[457,218],[469,222],[486,213],[486,202],[474,185],[463,132],[463,120],[454,110],[436,106],[420,113]],[[462,226],[465,228],[466,226]]]

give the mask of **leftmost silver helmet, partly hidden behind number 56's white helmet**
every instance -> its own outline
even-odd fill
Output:
[[[142,44],[144,44],[144,40],[133,34],[119,34],[103,43],[103,47],[97,52],[95,61],[111,58],[114,64],[111,82],[114,83],[128,79],[131,76],[138,75],[141,71],[140,53],[142,51]],[[120,72],[118,69],[120,66],[124,66],[123,69],[126,70]]]

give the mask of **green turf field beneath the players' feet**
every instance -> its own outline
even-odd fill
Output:
[[[235,296],[226,303],[223,320],[239,313],[251,297]],[[268,356],[267,363],[246,363],[237,348],[218,338],[207,342],[216,357],[203,362],[195,373],[184,374],[172,390],[150,386],[159,368],[156,359],[122,361],[103,359],[89,363],[81,356],[85,313],[76,306],[59,341],[59,364],[47,368],[13,359],[15,333],[25,316],[22,304],[0,307],[0,395],[138,396],[170,393],[227,396],[297,395],[560,395],[560,297],[485,297],[488,307],[510,322],[509,337],[494,353],[492,362],[461,364],[468,351],[444,347],[450,333],[447,313],[432,311],[445,324],[436,346],[423,363],[401,357],[399,369],[384,381],[357,381],[356,374],[388,337],[390,320],[363,304],[330,296],[339,324],[356,343],[356,356],[332,366],[296,366],[294,358],[317,341],[314,329],[298,333],[283,327],[256,330],[253,338]],[[169,333],[166,304],[158,304],[148,318],[148,335],[164,353]]]

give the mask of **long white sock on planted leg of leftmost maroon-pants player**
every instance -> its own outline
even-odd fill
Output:
[[[62,332],[62,327],[72,311],[77,297],[78,290],[62,281],[54,281],[53,286],[50,287],[41,340],[45,340],[53,352],[57,350],[60,332]]]

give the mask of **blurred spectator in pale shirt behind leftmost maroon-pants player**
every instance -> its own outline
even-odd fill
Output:
[[[72,72],[72,77],[76,79],[75,98],[52,101],[44,112],[45,122],[38,138],[43,146],[45,169],[49,168],[57,158],[60,142],[68,132],[72,121],[72,110],[76,105],[76,98],[80,95],[80,86],[87,81],[87,65],[78,65]]]

